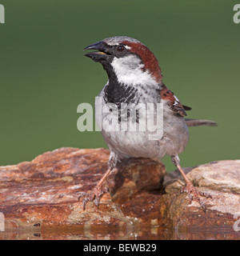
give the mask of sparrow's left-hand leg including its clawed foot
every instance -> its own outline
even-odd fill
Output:
[[[116,158],[114,158],[114,156],[110,156],[109,162],[108,162],[108,170],[106,170],[106,173],[103,174],[102,178],[100,179],[100,181],[98,182],[98,184],[96,186],[94,186],[94,189],[90,192],[90,193],[82,193],[78,200],[80,198],[82,199],[83,202],[83,210],[86,209],[86,204],[87,202],[93,202],[95,206],[99,205],[100,202],[100,198],[102,196],[102,194],[105,194],[108,191],[108,188],[106,186],[102,186],[103,182],[106,180],[107,176],[110,174],[110,172],[112,170],[114,170],[114,167],[116,166],[117,161]]]

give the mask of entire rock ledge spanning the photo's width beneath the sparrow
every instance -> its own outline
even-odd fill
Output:
[[[202,198],[206,213],[196,202],[189,205],[178,170],[167,173],[159,161],[131,158],[108,178],[110,192],[97,208],[86,210],[81,192],[90,191],[106,171],[109,151],[61,148],[31,162],[0,167],[0,212],[6,229],[49,226],[220,226],[233,228],[240,217],[240,160],[211,162],[186,168]],[[236,226],[236,225],[235,225]]]

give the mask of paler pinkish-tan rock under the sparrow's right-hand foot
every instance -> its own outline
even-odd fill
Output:
[[[188,204],[186,194],[178,194],[182,177],[176,181],[176,171],[166,174],[165,182],[169,182],[168,176],[174,176],[173,182],[169,182],[165,188],[167,194],[163,196],[169,206],[167,213],[174,225],[233,227],[236,219],[240,217],[240,160],[210,162],[188,171],[187,176],[194,186],[211,194],[212,198],[204,198],[207,207],[204,214],[196,202]]]

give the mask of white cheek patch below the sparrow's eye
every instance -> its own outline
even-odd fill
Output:
[[[113,66],[120,83],[133,86],[157,84],[149,71],[142,70],[144,65],[136,55],[128,55],[123,58],[114,57],[111,66]]]

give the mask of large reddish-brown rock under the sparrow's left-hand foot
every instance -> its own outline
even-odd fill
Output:
[[[82,210],[81,192],[91,190],[107,169],[109,151],[61,148],[46,152],[32,162],[0,167],[0,212],[6,228],[38,226],[131,226],[131,216],[118,203],[142,190],[160,186],[165,168],[150,159],[122,163],[110,175],[113,194],[103,195],[97,208],[89,202]]]

